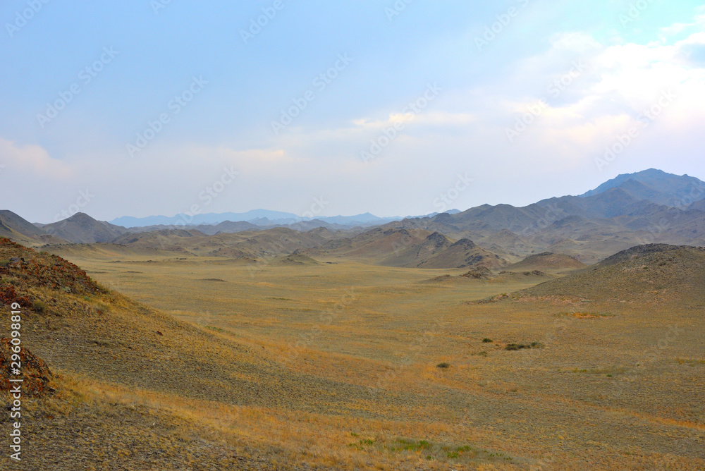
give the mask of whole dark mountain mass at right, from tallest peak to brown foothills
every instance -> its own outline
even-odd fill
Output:
[[[644,243],[705,245],[703,196],[705,183],[697,178],[650,170],[620,176],[581,196],[553,197],[525,207],[483,204],[381,227],[469,238],[508,259],[559,252],[595,263]],[[671,203],[661,204],[666,201]]]

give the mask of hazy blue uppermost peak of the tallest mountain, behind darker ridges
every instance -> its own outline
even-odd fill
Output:
[[[649,200],[666,206],[681,207],[684,205],[682,203],[684,200],[705,199],[705,182],[692,176],[678,176],[657,169],[619,175],[580,196],[599,195],[611,188],[623,188],[637,200]]]

